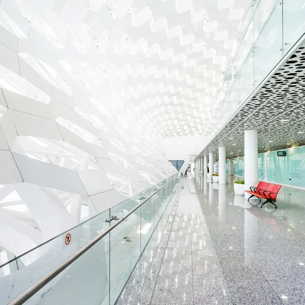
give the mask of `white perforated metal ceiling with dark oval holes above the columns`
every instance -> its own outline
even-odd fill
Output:
[[[199,154],[226,146],[227,158],[244,153],[244,131],[258,130],[258,150],[288,148],[305,142],[305,43],[263,85]]]

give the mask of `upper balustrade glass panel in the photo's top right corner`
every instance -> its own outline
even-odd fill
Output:
[[[304,0],[287,0],[283,6],[284,54],[297,42],[305,32]]]

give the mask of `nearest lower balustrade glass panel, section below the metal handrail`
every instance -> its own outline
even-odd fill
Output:
[[[11,295],[10,300],[16,296]],[[109,236],[106,235],[24,304],[40,303],[109,305]]]

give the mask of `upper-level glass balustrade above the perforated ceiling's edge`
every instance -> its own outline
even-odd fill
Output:
[[[215,135],[305,33],[304,0],[252,0],[206,129]]]

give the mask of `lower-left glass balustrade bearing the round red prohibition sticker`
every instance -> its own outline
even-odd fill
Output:
[[[166,223],[166,210],[180,182],[180,175],[175,174],[0,266],[0,303],[8,304],[117,221],[106,220],[123,218],[154,194],[25,302],[114,304],[157,224]]]

